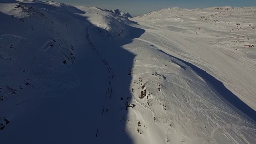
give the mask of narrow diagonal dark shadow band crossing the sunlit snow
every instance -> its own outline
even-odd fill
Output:
[[[167,54],[166,52],[164,52],[162,50],[159,50],[159,51]],[[214,91],[217,91],[218,94],[220,94],[221,99],[225,99],[226,102],[229,102],[234,107],[236,107],[238,110],[240,110],[240,112],[244,113],[251,120],[256,122],[256,111],[253,110],[252,108],[250,108],[250,106],[245,104],[242,100],[240,100],[235,94],[230,92],[230,90],[228,90],[222,82],[220,82],[219,80],[214,78],[212,75],[208,74],[206,71],[198,68],[197,66],[195,66],[189,62],[181,60],[180,58],[176,58],[175,56],[172,56],[170,54],[167,54],[167,55],[190,66],[190,68],[192,68],[192,70],[194,70],[199,76],[201,76],[207,82],[207,84],[210,85],[210,88],[213,88]]]

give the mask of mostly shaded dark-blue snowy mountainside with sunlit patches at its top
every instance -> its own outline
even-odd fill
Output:
[[[129,96],[133,54],[120,46],[142,30],[56,2],[1,0],[0,18],[1,143],[132,142],[119,94]]]

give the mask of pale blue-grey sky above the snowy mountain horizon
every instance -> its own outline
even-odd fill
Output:
[[[169,7],[206,8],[211,6],[256,6],[256,0],[54,0],[74,6],[96,6],[102,9],[119,9],[132,16],[146,14]]]

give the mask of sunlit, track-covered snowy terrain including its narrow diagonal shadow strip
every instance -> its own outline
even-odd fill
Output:
[[[255,12],[167,8],[131,19],[146,30],[127,46],[137,54],[133,72],[152,93],[131,114],[150,127],[138,127],[147,136],[138,143],[255,142],[256,49],[245,46],[256,44]]]

